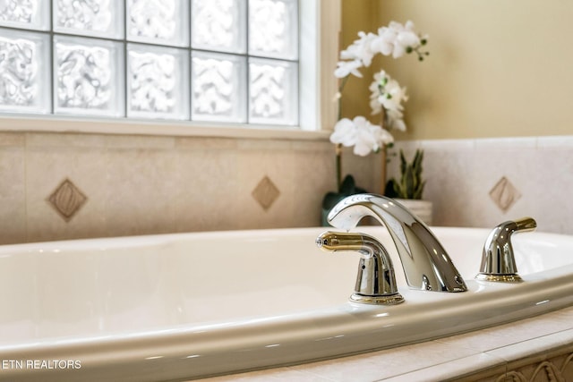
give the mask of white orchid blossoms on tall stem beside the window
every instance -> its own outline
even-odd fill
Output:
[[[350,75],[363,77],[359,71],[362,67],[372,64],[374,55],[386,55],[399,58],[403,55],[415,53],[419,61],[429,55],[423,52],[428,38],[415,32],[412,21],[401,24],[391,21],[388,26],[381,27],[378,33],[358,33],[352,45],[340,52],[341,61],[338,62],[334,75],[341,79],[336,98],[338,99],[338,123],[330,135],[330,141],[337,145],[337,180],[341,185],[340,156],[341,147],[353,147],[355,155],[365,157],[371,152],[380,152],[392,144],[394,138],[390,131],[406,131],[404,123],[404,106],[407,101],[406,88],[399,85],[389,74],[383,70],[376,72],[369,89],[371,91],[370,106],[372,115],[381,114],[381,123],[371,123],[363,116],[356,116],[353,120],[341,118],[340,98],[342,90]]]

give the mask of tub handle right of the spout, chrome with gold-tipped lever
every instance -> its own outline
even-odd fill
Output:
[[[516,259],[513,255],[511,235],[517,232],[534,231],[537,223],[531,217],[509,220],[493,228],[483,245],[482,265],[478,280],[518,283]]]

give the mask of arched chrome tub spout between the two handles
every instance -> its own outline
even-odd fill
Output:
[[[330,225],[349,231],[364,216],[374,217],[388,229],[411,288],[435,292],[467,290],[464,279],[432,231],[394,199],[373,194],[351,195],[332,208],[328,220]]]

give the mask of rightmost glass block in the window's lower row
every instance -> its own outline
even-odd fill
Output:
[[[298,123],[298,66],[249,59],[249,123]]]

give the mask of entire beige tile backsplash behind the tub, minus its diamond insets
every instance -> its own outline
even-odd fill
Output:
[[[397,144],[408,157],[418,147],[435,225],[533,216],[540,231],[573,234],[573,137]],[[343,166],[380,191],[379,156],[346,151]],[[326,140],[44,132],[1,132],[0,176],[0,243],[318,225],[336,183]],[[253,197],[265,177],[278,190],[266,209]],[[520,195],[505,211],[491,196],[504,178]],[[67,221],[48,202],[65,179],[87,197]]]

